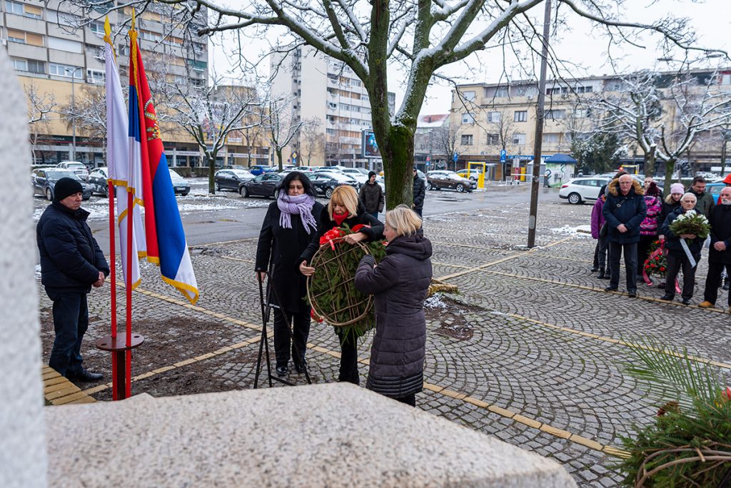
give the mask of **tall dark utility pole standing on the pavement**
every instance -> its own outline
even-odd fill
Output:
[[[536,245],[536,220],[538,214],[538,183],[541,177],[541,146],[546,99],[546,69],[548,68],[548,34],[550,34],[550,3],[546,0],[543,18],[543,48],[541,50],[541,76],[538,80],[538,105],[536,108],[536,131],[533,144],[533,178],[531,178],[531,207],[528,217],[528,247]]]

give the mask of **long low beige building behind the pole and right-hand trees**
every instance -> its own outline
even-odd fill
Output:
[[[659,74],[660,88],[667,87],[678,72]],[[692,75],[702,83],[712,79],[721,91],[731,91],[731,72],[696,69]],[[591,131],[591,104],[586,101],[597,96],[618,94],[622,80],[617,75],[583,77],[574,80],[548,80],[545,99],[545,125],[542,135],[542,159],[556,153],[571,153],[572,134]],[[702,86],[692,88],[702,91]],[[538,88],[535,80],[511,83],[471,83],[459,85],[452,91],[450,126],[456,131],[458,167],[469,161],[496,164],[496,179],[512,175],[515,168],[526,168],[534,159],[535,118]],[[662,117],[668,133],[680,127],[679,114],[671,101],[662,101]],[[721,130],[700,134],[686,155],[698,171],[720,169]],[[643,165],[643,152],[626,141],[628,154],[625,164]],[[504,151],[504,161],[501,153]],[[664,172],[662,164],[657,165]]]

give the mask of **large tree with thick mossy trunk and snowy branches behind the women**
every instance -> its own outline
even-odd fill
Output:
[[[88,12],[104,0],[76,0]],[[129,0],[113,8],[154,0]],[[159,0],[178,7],[178,19],[205,21],[198,34],[249,29],[257,37],[265,29],[283,26],[291,35],[276,39],[273,50],[288,52],[307,44],[320,53],[341,61],[362,80],[371,102],[371,117],[382,153],[387,206],[412,202],[414,132],[417,116],[433,77],[444,77],[445,66],[459,63],[489,43],[508,49],[525,46],[537,52],[541,37],[529,15],[545,0],[434,0],[395,2],[387,0],[330,0],[292,2],[251,0],[243,9],[228,7],[215,0]],[[658,0],[662,1],[662,0]],[[614,41],[637,42],[636,34],[661,34],[666,44],[686,49],[694,36],[687,23],[670,16],[650,23],[623,20],[624,0],[556,0],[563,15],[558,21],[570,23],[568,15],[578,15],[606,29]],[[205,8],[204,8],[205,7]],[[561,9],[560,7],[565,7]],[[672,11],[668,8],[667,11]],[[178,20],[180,22],[181,20]],[[243,52],[240,45],[240,52]],[[725,53],[724,53],[725,54]],[[241,55],[243,56],[243,55]],[[406,73],[406,94],[395,114],[388,109],[388,69],[401,65]]]

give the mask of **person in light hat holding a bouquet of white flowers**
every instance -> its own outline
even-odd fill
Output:
[[[681,267],[683,268],[683,305],[690,305],[690,299],[693,297],[695,271],[698,269],[700,251],[705,239],[694,234],[675,235],[670,230],[670,224],[673,224],[673,221],[683,213],[694,210],[696,201],[697,198],[694,194],[690,192],[684,194],[681,198],[681,207],[670,213],[662,224],[660,232],[665,236],[667,275],[665,275],[665,294],[660,297],[660,300],[670,301],[675,297],[675,278],[678,278],[678,271],[681,270]],[[690,257],[683,248],[681,240],[685,240],[691,254]],[[716,286],[718,286],[718,279],[716,279]]]

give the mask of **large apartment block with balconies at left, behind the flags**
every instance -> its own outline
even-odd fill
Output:
[[[109,4],[121,4],[110,1]],[[32,91],[36,101],[53,102],[53,110],[44,121],[29,126],[34,161],[53,164],[64,159],[83,161],[91,166],[104,164],[104,129],[102,121],[70,118],[84,104],[103,103],[105,61],[103,18],[89,22],[75,12],[71,2],[3,0],[0,4],[0,42],[7,50],[26,93]],[[107,13],[113,35],[132,14]],[[164,79],[205,86],[208,83],[208,42],[186,33],[171,22],[174,12],[154,11],[137,16],[140,49],[148,76],[164,69]],[[192,26],[198,28],[200,26]],[[185,39],[185,40],[183,40]],[[192,39],[192,41],[190,40]],[[129,38],[126,29],[114,38],[122,83],[128,79]],[[29,99],[29,104],[33,104]],[[66,115],[64,115],[66,114]],[[98,114],[97,114],[98,115]],[[101,128],[99,127],[101,124]],[[200,164],[200,151],[192,138],[182,131],[166,130],[162,134],[168,161],[178,166]],[[101,134],[101,135],[100,135]]]

